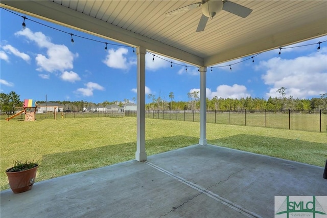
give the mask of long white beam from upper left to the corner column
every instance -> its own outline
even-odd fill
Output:
[[[203,58],[184,52],[164,43],[116,27],[100,19],[60,6],[52,1],[1,1],[0,6],[28,14],[55,24],[76,29],[132,47],[147,50],[196,66],[203,65]]]

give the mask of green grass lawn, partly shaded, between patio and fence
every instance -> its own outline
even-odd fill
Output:
[[[99,117],[0,121],[1,190],[14,160],[40,164],[37,181],[135,158],[136,118]],[[147,155],[197,144],[199,123],[146,119]],[[209,144],[324,166],[326,134],[296,130],[207,124]]]

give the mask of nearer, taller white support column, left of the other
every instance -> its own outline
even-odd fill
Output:
[[[136,153],[137,161],[146,161],[147,153],[145,151],[145,55],[147,49],[137,47],[137,138]]]

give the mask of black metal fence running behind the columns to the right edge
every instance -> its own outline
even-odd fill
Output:
[[[136,111],[126,111],[125,116],[136,116]],[[199,110],[146,111],[147,118],[200,122]],[[310,132],[327,132],[327,111],[268,111],[237,110],[207,111],[207,123],[284,128]]]

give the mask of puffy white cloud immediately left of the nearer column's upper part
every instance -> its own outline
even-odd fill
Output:
[[[119,48],[117,50],[110,49],[103,61],[109,68],[127,70],[130,66],[136,64],[133,59],[127,60],[128,50],[126,48]]]

